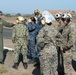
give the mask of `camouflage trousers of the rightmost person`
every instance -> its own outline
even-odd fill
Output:
[[[70,67],[68,67],[70,65]],[[72,75],[72,52],[66,51],[64,53],[64,72],[65,75]]]

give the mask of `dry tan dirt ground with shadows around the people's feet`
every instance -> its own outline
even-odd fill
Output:
[[[11,39],[4,39],[4,46],[14,48],[14,45]],[[0,64],[0,75],[40,75],[40,69],[37,68],[34,64],[28,64],[28,69],[25,70],[22,62],[20,62],[18,69],[15,70],[12,68],[14,59],[13,51],[4,50],[4,64]],[[73,72],[73,75],[76,75]]]

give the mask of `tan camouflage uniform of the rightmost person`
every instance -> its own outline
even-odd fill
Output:
[[[74,42],[75,42],[75,25],[65,25],[63,32],[62,32],[63,38],[64,38],[64,69],[66,75],[72,75],[72,57],[73,54],[72,52],[75,50],[74,49]],[[71,65],[70,68],[68,68],[68,65]]]

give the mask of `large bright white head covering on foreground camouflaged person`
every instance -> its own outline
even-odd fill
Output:
[[[42,17],[45,18],[46,23],[50,23],[52,20],[55,20],[54,16],[49,11],[43,11]]]

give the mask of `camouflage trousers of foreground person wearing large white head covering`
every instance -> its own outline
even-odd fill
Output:
[[[57,75],[57,54],[39,56],[41,75]]]

